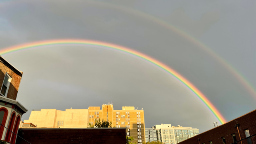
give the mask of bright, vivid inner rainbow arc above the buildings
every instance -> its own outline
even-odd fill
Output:
[[[159,68],[163,69],[164,71],[168,72],[172,76],[174,76],[177,80],[179,80],[181,83],[183,83],[189,90],[191,90],[207,107],[208,109],[214,114],[214,116],[220,121],[220,123],[226,123],[225,118],[220,114],[220,112],[216,109],[215,106],[206,98],[206,96],[200,92],[197,87],[195,87],[192,83],[190,83],[187,79],[185,79],[183,76],[181,76],[179,73],[174,71],[169,66],[161,63],[160,61],[147,56],[146,54],[143,54],[141,52],[137,52],[135,50],[129,49],[127,47],[123,47],[120,45],[114,45],[107,42],[100,42],[100,41],[94,41],[94,40],[73,40],[73,39],[67,39],[67,40],[47,40],[47,41],[39,41],[39,42],[32,42],[27,43],[23,45],[17,45],[14,47],[8,47],[5,49],[0,50],[0,54],[8,54],[11,52],[16,52],[19,50],[24,50],[28,48],[33,47],[40,47],[40,46],[46,46],[46,45],[63,45],[63,44],[79,44],[79,45],[96,45],[101,47],[106,47],[114,50],[119,50],[122,52],[126,52],[129,54],[133,54],[137,57],[140,57],[141,59],[145,59],[146,61],[149,61],[150,63],[158,66]]]

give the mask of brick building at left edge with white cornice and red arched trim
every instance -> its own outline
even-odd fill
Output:
[[[21,116],[28,110],[16,101],[22,72],[0,56],[0,139],[14,144]],[[7,127],[9,130],[7,130]]]

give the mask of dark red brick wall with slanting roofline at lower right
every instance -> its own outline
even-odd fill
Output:
[[[194,136],[190,139],[187,139],[178,144],[199,144],[198,140],[200,138],[200,144],[209,144],[210,141],[213,144],[223,144],[222,137],[225,137],[226,143],[233,143],[232,134],[236,135],[237,140],[240,140],[237,127],[235,125],[239,123],[239,133],[241,135],[241,139],[246,138],[244,130],[248,129],[250,135],[256,134],[256,110],[250,113],[247,113],[244,116],[236,118],[228,123],[220,125],[216,128],[213,128],[209,131],[203,132],[200,135]],[[251,137],[252,144],[256,144],[256,136]],[[243,144],[247,144],[247,140],[242,140]],[[238,142],[238,144],[241,144]]]

